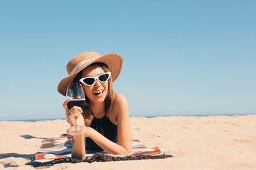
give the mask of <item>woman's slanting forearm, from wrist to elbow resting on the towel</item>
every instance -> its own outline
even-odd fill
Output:
[[[93,131],[90,138],[97,143],[97,145],[100,146],[103,150],[105,150],[107,153],[115,154],[115,155],[129,155],[130,152],[128,152],[123,146],[120,146],[113,141],[109,140],[105,136],[102,136],[97,131]]]

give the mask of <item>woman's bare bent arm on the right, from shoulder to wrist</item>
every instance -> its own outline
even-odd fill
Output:
[[[108,153],[129,155],[131,153],[131,130],[128,103],[125,96],[122,94],[115,94],[115,97],[115,104],[113,104],[112,110],[117,113],[118,144],[113,143],[113,141],[102,136],[102,134],[94,129],[90,138]]]

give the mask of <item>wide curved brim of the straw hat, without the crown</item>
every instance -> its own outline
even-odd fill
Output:
[[[90,62],[84,64],[76,71],[76,73],[67,76],[66,78],[63,78],[58,85],[58,92],[60,92],[60,94],[62,94],[63,96],[66,96],[67,87],[70,83],[72,83],[74,78],[76,78],[77,74],[80,73],[84,68],[90,66],[95,62],[102,62],[108,66],[113,81],[118,78],[123,66],[123,58],[120,55],[116,53],[106,53],[105,55],[97,57],[95,58],[95,60],[91,60]]]

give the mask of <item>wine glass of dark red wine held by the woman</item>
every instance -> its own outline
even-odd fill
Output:
[[[85,96],[84,96],[84,90],[80,83],[71,83],[68,85],[66,97],[70,99],[67,106],[70,110],[73,106],[79,106],[80,108],[83,107],[85,103]],[[80,125],[77,125],[75,122],[75,125],[70,125],[70,128],[67,130],[70,134],[78,135],[84,132],[84,128]]]

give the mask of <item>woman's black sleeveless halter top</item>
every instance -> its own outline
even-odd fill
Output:
[[[117,143],[117,125],[113,124],[106,114],[102,118],[93,118],[90,127],[97,132],[108,138],[109,140]],[[91,138],[86,138],[86,149],[103,151]]]

